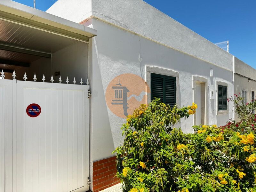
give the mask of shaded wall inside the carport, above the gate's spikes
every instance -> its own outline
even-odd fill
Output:
[[[37,81],[42,81],[43,75],[46,82],[50,82],[53,75],[54,83],[59,83],[59,76],[54,76],[54,72],[60,71],[62,83],[66,82],[68,76],[69,83],[72,83],[74,77],[76,83],[79,84],[81,78],[84,83],[88,78],[88,44],[77,42],[69,45],[57,52],[52,53],[52,59],[41,58],[30,64],[29,68],[22,67],[16,70],[18,80],[23,80],[26,72],[28,81],[33,81],[33,76],[36,73]],[[12,79],[12,74],[6,76]]]

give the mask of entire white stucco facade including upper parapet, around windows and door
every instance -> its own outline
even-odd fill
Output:
[[[125,119],[113,114],[105,100],[109,82],[123,73],[146,80],[146,66],[179,72],[180,106],[193,102],[192,76],[205,77],[208,94],[214,91],[214,99],[208,100],[209,124],[223,125],[233,117],[216,111],[216,82],[227,83],[228,94],[233,93],[231,54],[142,0],[67,1],[59,0],[47,12],[98,30],[89,45],[91,162],[111,156],[123,141],[120,127]],[[181,121],[185,132],[192,132],[192,125],[193,118]]]

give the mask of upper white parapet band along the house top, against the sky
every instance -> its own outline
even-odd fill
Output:
[[[142,0],[58,0],[46,12],[75,21],[100,19],[232,70],[232,55]],[[92,16],[92,17],[90,17]]]

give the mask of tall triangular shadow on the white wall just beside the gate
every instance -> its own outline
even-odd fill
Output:
[[[92,42],[93,43],[93,42]],[[96,54],[97,46],[92,46]],[[111,156],[114,151],[114,142],[111,132],[107,104],[100,73],[100,60],[98,55],[93,55],[92,65],[92,156],[93,161]],[[120,128],[119,128],[120,130]],[[120,131],[121,135],[121,131]]]

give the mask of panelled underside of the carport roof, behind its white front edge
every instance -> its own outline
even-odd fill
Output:
[[[10,72],[42,57],[51,58],[77,40],[0,20],[0,70]]]

